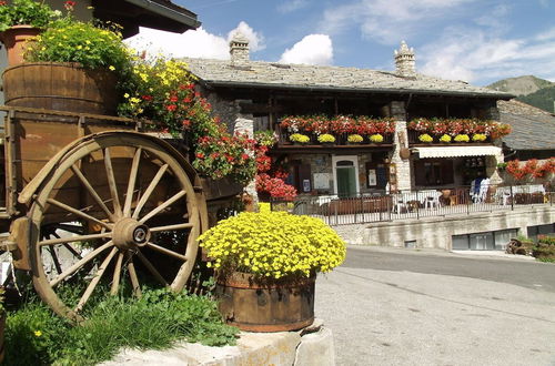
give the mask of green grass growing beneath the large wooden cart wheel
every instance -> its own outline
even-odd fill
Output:
[[[4,365],[94,365],[121,347],[163,349],[180,339],[233,345],[238,333],[210,298],[165,289],[144,291],[141,299],[101,298],[85,315],[72,326],[37,298],[9,312]]]

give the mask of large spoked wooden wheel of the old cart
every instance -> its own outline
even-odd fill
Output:
[[[50,172],[31,207],[34,287],[75,322],[98,294],[182,289],[198,252],[196,200],[180,161],[154,141],[129,133],[83,141]]]

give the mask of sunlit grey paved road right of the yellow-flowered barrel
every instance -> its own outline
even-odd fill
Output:
[[[315,312],[337,365],[553,366],[554,278],[517,258],[351,247]]]

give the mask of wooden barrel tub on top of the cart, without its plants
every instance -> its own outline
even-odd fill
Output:
[[[79,63],[29,62],[3,72],[6,104],[56,111],[114,115],[115,75]]]

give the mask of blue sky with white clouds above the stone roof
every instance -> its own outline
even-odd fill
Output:
[[[405,40],[418,72],[476,85],[533,74],[555,81],[555,0],[174,0],[202,27],[184,34],[141,29],[174,57],[229,58],[240,29],[251,59],[394,70]]]

